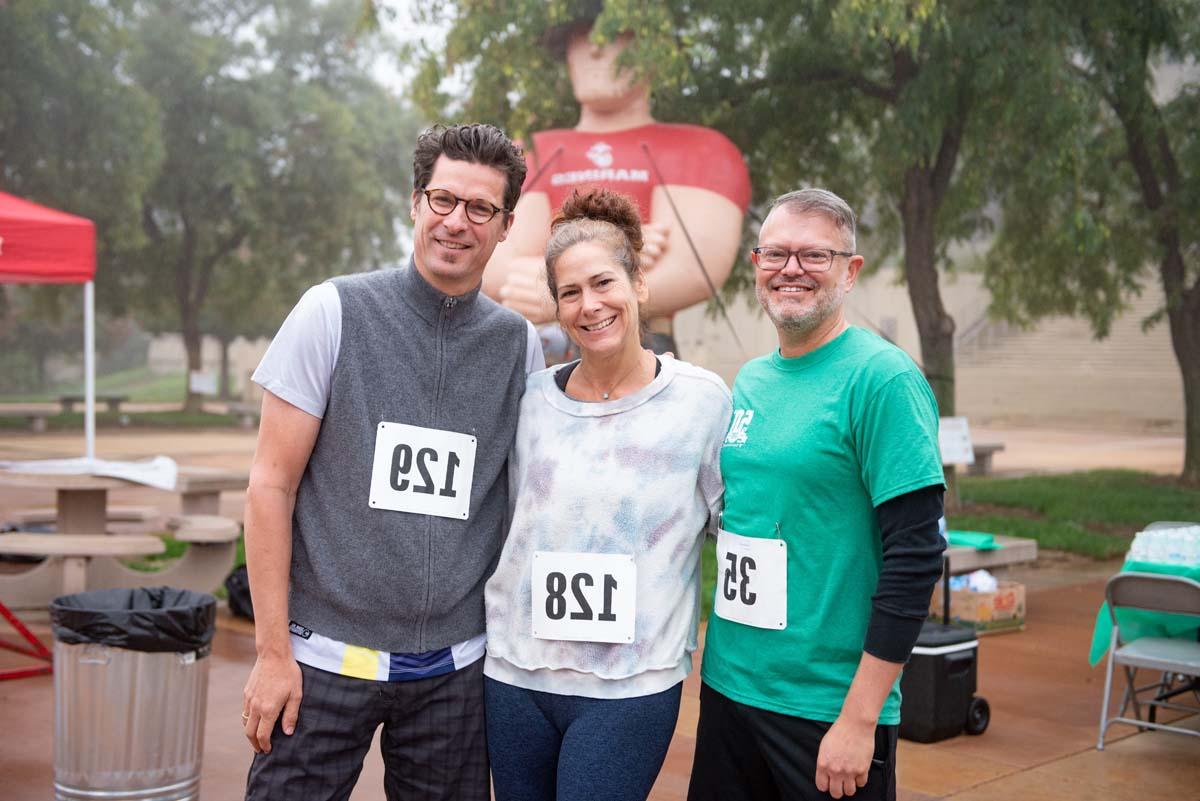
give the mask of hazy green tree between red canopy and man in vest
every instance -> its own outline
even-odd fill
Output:
[[[140,10],[131,72],[158,102],[167,155],[127,285],[182,331],[188,369],[204,333],[268,332],[304,285],[398,255],[414,125],[367,77],[358,13],[311,0]]]

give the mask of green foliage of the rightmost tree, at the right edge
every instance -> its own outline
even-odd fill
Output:
[[[1104,336],[1158,281],[1183,379],[1183,478],[1200,483],[1200,4],[1056,4],[1050,102],[1006,143],[988,284],[1018,323],[1079,314]]]

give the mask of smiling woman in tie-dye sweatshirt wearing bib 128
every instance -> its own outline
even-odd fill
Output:
[[[634,203],[596,189],[568,199],[546,247],[582,359],[529,377],[509,462],[485,592],[498,801],[646,799],[691,670],[731,402],[713,373],[642,348],[641,245]]]

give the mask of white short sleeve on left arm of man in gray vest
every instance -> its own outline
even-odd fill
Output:
[[[317,284],[283,320],[251,380],[313,417],[324,417],[341,344],[342,299],[334,284]]]

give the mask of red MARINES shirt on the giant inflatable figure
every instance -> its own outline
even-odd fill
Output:
[[[634,198],[649,219],[650,193],[660,183],[709,189],[742,212],[750,203],[750,175],[732,141],[712,128],[666,122],[607,133],[535,133],[522,192],[545,192],[551,209],[560,209],[572,189],[601,186]]]

